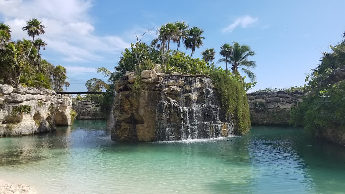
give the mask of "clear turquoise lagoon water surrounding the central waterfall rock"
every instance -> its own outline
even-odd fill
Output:
[[[104,121],[77,120],[0,148],[0,179],[39,193],[345,193],[345,147],[299,128],[128,144],[112,142]]]

